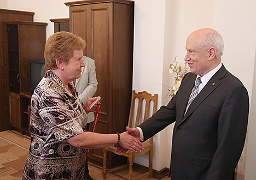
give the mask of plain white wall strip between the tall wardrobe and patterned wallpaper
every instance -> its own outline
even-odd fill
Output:
[[[165,0],[135,1],[135,37],[133,61],[133,89],[146,90],[159,95],[161,105],[162,67],[164,59]],[[165,167],[165,153],[162,153],[160,135],[154,138],[153,169]],[[137,157],[135,163],[148,166],[147,154]]]

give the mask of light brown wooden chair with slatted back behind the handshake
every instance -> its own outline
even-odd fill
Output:
[[[150,103],[150,101],[153,101],[153,103]],[[136,102],[138,102],[138,103],[136,103]],[[147,93],[146,91],[136,93],[133,90],[128,126],[130,128],[137,127],[140,123],[147,120],[151,115],[153,115],[156,112],[157,105],[158,105],[158,94],[154,94],[152,96],[151,94]],[[135,112],[136,112],[135,109],[137,110],[136,116],[135,116]],[[151,114],[150,114],[150,111],[151,111]],[[142,119],[143,113],[144,113],[144,117]],[[108,172],[113,172],[113,171],[123,169],[124,167],[129,167],[129,180],[131,180],[132,179],[132,165],[133,165],[133,161],[134,161],[135,157],[137,157],[139,155],[143,155],[146,152],[149,152],[149,155],[148,155],[149,171],[144,173],[143,175],[137,177],[136,179],[140,179],[140,178],[146,177],[146,176],[149,176],[149,178],[152,178],[153,177],[153,137],[151,137],[149,140],[143,142],[143,148],[144,149],[142,152],[137,152],[137,153],[134,153],[131,151],[127,151],[126,153],[117,153],[117,152],[115,152],[116,148],[114,146],[109,146],[109,147],[103,148],[103,170],[102,170],[103,179],[106,179],[106,175]],[[128,158],[127,164],[107,170],[107,151],[127,157]],[[133,179],[133,180],[135,180],[135,179]]]

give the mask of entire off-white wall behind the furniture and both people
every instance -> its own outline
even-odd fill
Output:
[[[68,17],[68,1],[2,0],[0,8],[33,11],[34,21],[48,22],[46,35],[53,34],[53,23],[49,19]],[[256,177],[256,133],[255,91],[256,65],[256,1],[255,0],[135,0],[135,44],[133,89],[147,90],[159,94],[159,107],[166,104],[166,87],[173,85],[173,75],[168,74],[168,64],[183,65],[185,39],[190,32],[202,27],[213,27],[223,35],[225,41],[223,62],[247,87],[251,98],[248,131],[248,157],[246,169],[242,167],[240,179],[246,172],[246,179]],[[253,81],[254,76],[254,81]],[[252,98],[254,98],[252,101]],[[170,167],[172,127],[157,134],[154,139],[155,170]],[[246,152],[243,153],[245,163]],[[147,157],[136,162],[147,165]],[[248,177],[248,178],[247,178]]]

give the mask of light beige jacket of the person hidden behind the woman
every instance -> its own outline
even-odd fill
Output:
[[[98,81],[96,79],[94,59],[83,56],[85,67],[82,68],[82,73],[79,79],[75,80],[75,88],[77,88],[78,97],[85,104],[97,91]],[[88,113],[87,123],[94,121],[94,112]]]

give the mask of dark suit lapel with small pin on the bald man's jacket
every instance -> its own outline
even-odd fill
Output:
[[[207,82],[205,87],[203,87],[202,91],[197,95],[197,97],[190,104],[189,109],[185,116],[182,118],[182,122],[185,121],[189,117],[191,113],[220,85],[220,79],[222,79],[226,74],[226,69],[222,64],[222,67],[217,71],[216,74],[212,76],[212,78]],[[192,87],[193,88],[193,87]],[[190,89],[191,92],[191,89]],[[190,95],[190,94],[189,94]],[[187,105],[186,105],[187,106]],[[185,111],[184,111],[185,113]],[[179,123],[179,124],[181,124]]]

